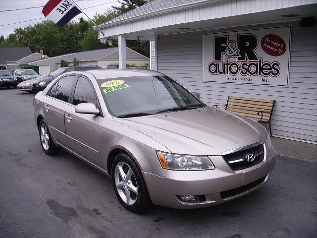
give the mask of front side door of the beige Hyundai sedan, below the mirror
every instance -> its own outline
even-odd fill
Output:
[[[75,106],[80,103],[93,103],[100,110],[90,79],[82,75],[78,77],[71,103],[74,107],[65,112],[65,130],[69,138],[69,148],[91,163],[102,166],[100,155],[102,114],[89,115],[75,112]]]

